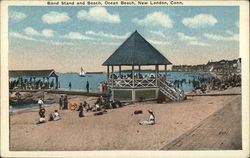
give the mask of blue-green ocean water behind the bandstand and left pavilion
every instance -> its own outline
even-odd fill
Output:
[[[124,73],[126,75],[127,73]],[[146,73],[143,72],[142,75]],[[148,74],[154,74],[148,73]],[[164,73],[162,73],[164,74]],[[101,81],[107,81],[107,74],[86,74],[85,77],[80,77],[78,73],[58,73],[58,81],[60,88],[59,89],[69,89],[69,82],[71,82],[71,89],[73,90],[86,90],[86,83],[89,82],[90,91],[99,91],[98,84]],[[175,80],[186,80],[186,84],[182,84],[179,88],[182,89],[184,92],[189,92],[194,89],[192,82],[189,84],[189,80],[192,81],[193,79],[197,80],[199,77],[211,77],[209,73],[205,72],[167,72],[167,80],[174,82]],[[24,78],[25,79],[25,78]],[[29,78],[26,78],[29,80]],[[36,80],[43,80],[43,78],[36,78]],[[11,80],[14,80],[12,78]],[[49,79],[51,82],[53,78]],[[45,102],[45,106],[50,106],[54,102],[48,101]],[[37,104],[26,104],[26,105],[10,105],[10,111],[18,111],[22,109],[38,107]]]

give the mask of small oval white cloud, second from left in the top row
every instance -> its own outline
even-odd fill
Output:
[[[47,24],[66,22],[69,19],[70,17],[68,16],[68,13],[66,12],[59,13],[59,12],[51,11],[42,16],[42,21]]]

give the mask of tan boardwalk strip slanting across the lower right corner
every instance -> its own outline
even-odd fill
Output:
[[[161,150],[242,150],[241,96]]]

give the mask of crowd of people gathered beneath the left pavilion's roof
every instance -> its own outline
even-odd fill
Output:
[[[45,80],[36,80],[35,78],[30,77],[30,79],[18,78],[12,81],[9,81],[9,89],[51,89],[56,88],[54,79],[49,81]]]

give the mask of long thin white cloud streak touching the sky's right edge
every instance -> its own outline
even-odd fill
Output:
[[[233,34],[231,36],[221,36],[221,35],[216,35],[216,34],[211,34],[211,33],[204,33],[203,36],[208,39],[215,40],[215,41],[238,41],[239,40],[238,34]]]

